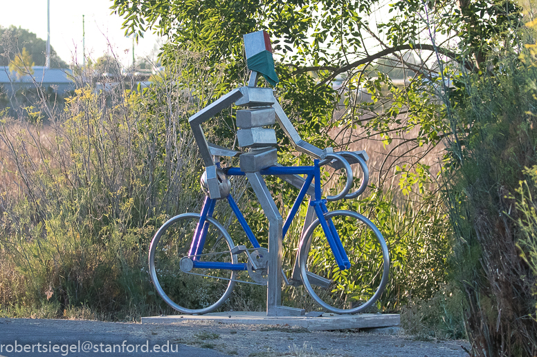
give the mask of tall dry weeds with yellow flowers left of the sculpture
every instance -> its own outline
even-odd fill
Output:
[[[148,244],[202,199],[187,121],[201,103],[176,80],[195,60],[178,55],[149,90],[127,90],[128,78],[96,90],[82,78],[45,123],[2,117],[3,311],[53,305],[58,316],[89,309],[127,320],[161,311]]]

